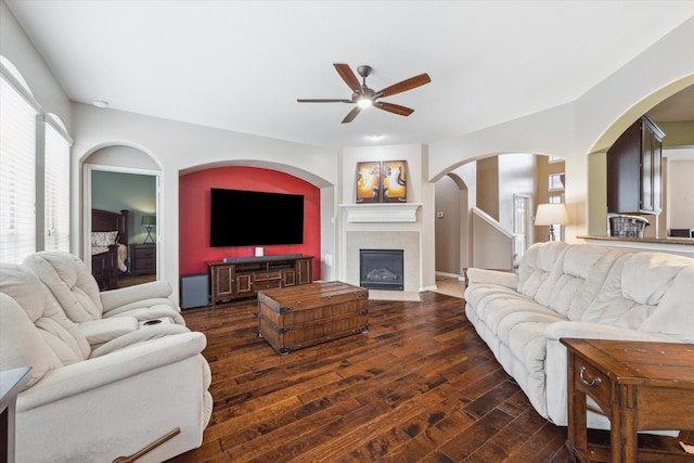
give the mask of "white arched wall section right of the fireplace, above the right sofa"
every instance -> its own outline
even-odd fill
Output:
[[[588,154],[604,150],[655,104],[694,85],[694,18],[665,36],[575,102],[432,143],[429,180],[488,154],[535,153],[566,159],[566,241],[588,232]]]

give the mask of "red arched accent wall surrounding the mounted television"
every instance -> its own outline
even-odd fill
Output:
[[[266,256],[313,256],[313,280],[320,280],[321,195],[311,183],[278,170],[257,167],[219,167],[179,178],[179,271],[207,273],[207,261],[255,255],[255,246],[209,246],[209,189],[262,191],[304,195],[304,244],[262,246]]]

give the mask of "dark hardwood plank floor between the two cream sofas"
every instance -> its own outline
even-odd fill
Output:
[[[566,428],[530,407],[460,298],[370,301],[370,331],[279,356],[257,301],[184,311],[207,335],[215,408],[170,462],[569,462]]]

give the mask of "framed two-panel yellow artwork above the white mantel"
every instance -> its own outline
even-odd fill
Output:
[[[407,203],[407,160],[357,163],[357,204]]]

